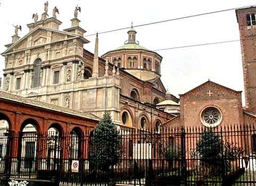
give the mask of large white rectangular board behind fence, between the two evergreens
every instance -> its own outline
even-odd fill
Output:
[[[151,159],[151,143],[133,144],[133,159]]]

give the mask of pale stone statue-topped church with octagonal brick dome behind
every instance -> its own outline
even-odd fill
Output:
[[[47,5],[48,6],[48,5]],[[162,56],[142,47],[136,31],[128,31],[124,46],[98,56],[99,38],[94,54],[86,50],[90,41],[79,27],[77,7],[71,27],[59,30],[61,21],[47,9],[29,32],[5,45],[3,90],[14,95],[67,107],[99,119],[109,112],[114,122],[127,128],[158,129],[176,116],[156,105],[166,98],[178,105],[179,99],[167,92],[160,79]]]

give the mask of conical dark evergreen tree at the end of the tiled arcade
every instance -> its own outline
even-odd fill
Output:
[[[91,137],[90,165],[91,170],[108,171],[110,166],[118,163],[120,157],[120,137],[116,125],[109,113],[105,113]]]

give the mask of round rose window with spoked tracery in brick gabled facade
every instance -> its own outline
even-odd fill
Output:
[[[207,107],[201,113],[201,121],[205,126],[214,127],[221,122],[221,112],[218,108]]]

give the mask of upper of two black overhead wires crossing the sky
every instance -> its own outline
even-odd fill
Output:
[[[256,6],[256,5],[252,5],[252,6]],[[163,22],[169,22],[169,21],[193,18],[193,17],[196,17],[196,16],[207,15],[207,14],[214,14],[214,13],[220,13],[220,12],[227,12],[227,11],[236,10],[236,9],[245,9],[245,8],[248,8],[248,7],[251,7],[251,6],[236,7],[236,8],[232,8],[232,9],[225,9],[225,10],[207,12],[207,13],[202,13],[202,14],[188,15],[188,16],[183,16],[183,17],[180,17],[180,18],[167,19],[167,20],[163,20],[163,21],[139,24],[139,25],[133,26],[133,27],[143,27],[143,26],[148,26],[148,25],[151,25],[151,24],[158,24],[158,23],[163,23]],[[109,33],[109,32],[114,32],[114,31],[119,31],[119,30],[126,30],[126,29],[129,29],[129,28],[131,28],[131,27],[119,28],[119,29],[108,30],[108,31],[103,31],[103,32],[97,32],[97,33],[99,35],[101,33]],[[92,33],[91,35],[86,35],[84,37],[94,36],[94,35],[97,35],[97,33]]]

